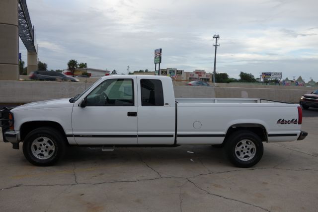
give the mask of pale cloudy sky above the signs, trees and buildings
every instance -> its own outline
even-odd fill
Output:
[[[38,57],[49,69],[282,71],[318,81],[317,0],[27,0]],[[20,42],[22,59],[26,50]]]

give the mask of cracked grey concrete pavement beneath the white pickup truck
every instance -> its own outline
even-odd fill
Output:
[[[72,147],[57,165],[36,167],[1,142],[0,209],[317,211],[317,124],[304,118],[304,141],[264,143],[263,158],[251,168],[234,167],[222,149],[202,145]]]

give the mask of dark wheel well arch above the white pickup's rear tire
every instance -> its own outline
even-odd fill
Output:
[[[259,136],[259,138],[261,139],[261,141],[268,141],[267,140],[267,132],[264,126],[259,125],[259,124],[239,124],[239,125],[233,125],[228,129],[228,132],[225,136],[224,141],[226,141],[231,134],[233,134],[234,132],[240,131],[240,130],[247,130],[250,132],[255,133],[257,136]],[[224,142],[223,141],[223,142]]]

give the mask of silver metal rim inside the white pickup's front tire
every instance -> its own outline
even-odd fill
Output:
[[[54,142],[47,137],[39,137],[31,143],[31,152],[38,159],[48,159],[55,152]]]

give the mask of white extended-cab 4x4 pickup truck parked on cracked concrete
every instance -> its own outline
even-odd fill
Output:
[[[81,94],[1,111],[3,138],[34,165],[60,159],[67,145],[223,147],[230,161],[251,167],[262,142],[303,140],[299,104],[262,99],[174,98],[170,77],[111,75]]]

